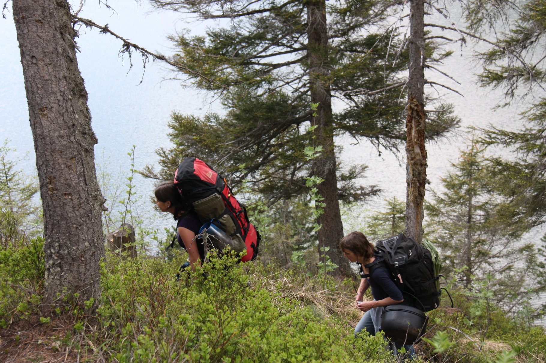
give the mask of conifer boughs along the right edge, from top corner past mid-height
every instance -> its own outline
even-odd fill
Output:
[[[544,0],[518,4],[468,2],[466,19],[471,31],[498,29],[489,50],[478,53],[483,62],[483,87],[505,91],[505,103],[530,101],[523,126],[516,131],[490,125],[480,140],[485,146],[505,148],[511,156],[491,158],[498,189],[520,210],[527,228],[546,221],[546,13]]]

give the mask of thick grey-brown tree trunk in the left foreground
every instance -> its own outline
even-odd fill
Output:
[[[13,0],[44,209],[44,299],[100,297],[104,257],[100,193],[87,92],[66,0]]]

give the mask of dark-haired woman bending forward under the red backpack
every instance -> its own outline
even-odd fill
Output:
[[[188,252],[188,265],[195,271],[195,265],[200,266],[205,261],[205,247],[196,238],[203,223],[201,223],[199,217],[185,199],[182,199],[173,181],[165,181],[159,184],[154,194],[156,195],[157,207],[162,212],[172,214],[174,220],[177,221],[178,243]]]

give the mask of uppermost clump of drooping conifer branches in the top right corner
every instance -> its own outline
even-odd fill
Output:
[[[544,44],[546,11],[544,0],[521,3],[471,1],[466,19],[473,31],[496,32],[497,39],[488,51],[477,54],[484,70],[482,86],[502,88],[507,104],[517,96],[533,96],[543,91],[546,79]]]

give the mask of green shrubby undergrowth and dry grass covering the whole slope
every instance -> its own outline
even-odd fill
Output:
[[[185,257],[109,255],[100,307],[86,316],[68,295],[54,306],[41,303],[40,240],[0,251],[0,329],[62,319],[64,330],[52,329],[58,332],[51,341],[78,351],[82,362],[396,361],[381,336],[353,337],[361,316],[352,307],[358,281],[229,258],[212,258],[176,281]],[[428,313],[428,341],[416,346],[419,361],[544,361],[542,327],[515,322],[485,304],[486,294],[452,295],[454,309]]]

